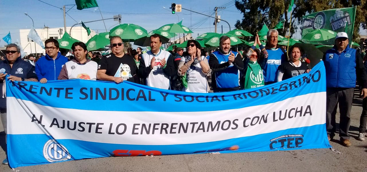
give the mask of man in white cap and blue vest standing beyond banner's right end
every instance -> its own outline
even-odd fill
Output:
[[[367,96],[367,74],[359,53],[350,48],[348,35],[339,32],[335,45],[326,51],[323,57],[326,69],[326,131],[328,139],[335,136],[335,114],[339,103],[340,140],[343,146],[349,147],[350,110],[352,109],[353,92],[356,80],[361,87],[361,96]]]

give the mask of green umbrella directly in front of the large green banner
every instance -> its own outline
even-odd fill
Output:
[[[329,39],[333,39],[337,36],[337,33],[332,31],[332,30],[328,30],[328,29],[315,29],[312,30],[311,32],[305,34],[305,36],[302,37],[302,40],[305,41],[326,41]]]

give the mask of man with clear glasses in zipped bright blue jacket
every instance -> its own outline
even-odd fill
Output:
[[[53,38],[45,41],[46,55],[36,62],[36,74],[40,83],[48,80],[57,80],[62,66],[68,62],[68,58],[59,52],[59,42]]]

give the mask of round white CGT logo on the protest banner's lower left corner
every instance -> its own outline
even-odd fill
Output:
[[[68,149],[63,145],[56,143],[53,139],[48,140],[43,146],[43,156],[48,162],[70,160],[71,158]]]

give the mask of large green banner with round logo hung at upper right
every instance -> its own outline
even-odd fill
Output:
[[[355,15],[356,7],[324,10],[305,15],[302,20],[302,38],[315,29],[344,32],[345,25],[347,25],[349,43],[352,43]],[[335,39],[317,42],[309,42],[308,40],[302,39],[302,41],[313,44],[334,44]]]

